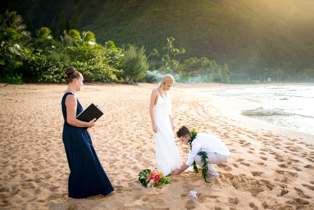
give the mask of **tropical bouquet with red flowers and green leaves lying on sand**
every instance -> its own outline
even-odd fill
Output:
[[[162,173],[156,171],[152,172],[145,169],[138,174],[138,180],[144,187],[158,187],[160,185],[171,184],[171,179],[162,176]]]

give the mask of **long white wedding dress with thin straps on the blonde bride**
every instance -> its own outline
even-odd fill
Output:
[[[158,92],[158,100],[155,105],[156,111],[154,115],[155,123],[157,125],[157,133],[154,133],[155,139],[155,154],[157,171],[161,172],[163,176],[167,176],[172,170],[182,165],[176,144],[173,138],[171,122],[169,114],[164,105],[164,99]]]

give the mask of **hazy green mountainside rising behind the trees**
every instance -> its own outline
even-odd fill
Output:
[[[186,53],[181,60],[203,56],[228,64],[230,72],[259,78],[264,69],[285,75],[314,69],[314,1],[312,0],[5,0],[34,25],[50,27],[61,11],[71,20],[78,6],[78,30],[95,33],[96,42],[112,40],[145,45],[166,54],[167,37]],[[161,59],[156,58],[158,60]]]

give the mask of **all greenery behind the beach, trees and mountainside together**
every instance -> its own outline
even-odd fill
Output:
[[[178,82],[314,82],[313,9],[307,0],[4,0],[0,82],[62,82],[70,65],[100,82],[166,73]]]

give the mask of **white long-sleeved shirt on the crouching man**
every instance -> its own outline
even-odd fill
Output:
[[[215,152],[222,156],[230,154],[228,148],[218,137],[207,133],[198,133],[196,139],[192,141],[192,150],[190,150],[185,164],[191,166],[195,160],[195,156],[201,150],[207,154],[210,152]]]

